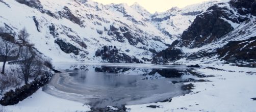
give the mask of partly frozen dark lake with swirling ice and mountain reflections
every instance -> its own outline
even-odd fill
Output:
[[[56,64],[57,73],[44,88],[48,94],[106,107],[144,104],[186,94],[183,83],[172,81],[196,78],[186,66],[148,64]]]

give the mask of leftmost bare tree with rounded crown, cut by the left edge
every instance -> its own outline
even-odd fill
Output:
[[[5,65],[7,61],[15,60],[18,55],[18,45],[9,41],[0,39],[0,61],[4,62],[2,74],[5,74]]]

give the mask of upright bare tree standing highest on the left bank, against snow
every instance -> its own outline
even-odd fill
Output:
[[[30,34],[28,33],[27,29],[25,27],[19,31],[18,34],[18,40],[23,46],[27,46],[29,44],[29,36]]]

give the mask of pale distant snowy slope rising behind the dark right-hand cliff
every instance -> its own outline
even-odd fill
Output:
[[[197,15],[205,12],[209,7],[223,1],[208,1],[194,4],[185,8],[173,7],[166,12],[156,12],[152,15],[152,22],[163,33],[171,37],[180,37],[191,25]]]

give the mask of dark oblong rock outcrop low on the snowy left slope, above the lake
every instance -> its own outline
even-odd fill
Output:
[[[73,46],[70,43],[66,43],[61,39],[56,39],[55,43],[57,43],[60,46],[61,50],[66,53],[74,53],[75,55],[78,55],[80,52],[79,48]]]

